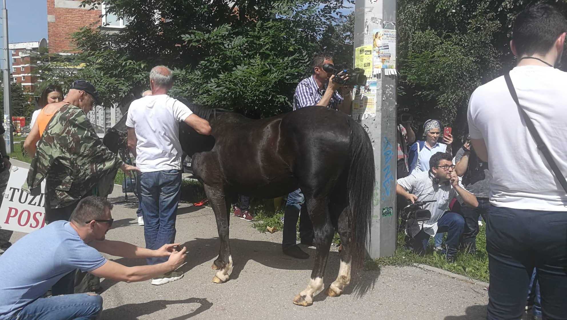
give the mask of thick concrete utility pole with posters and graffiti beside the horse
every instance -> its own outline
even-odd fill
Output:
[[[394,254],[397,238],[396,0],[356,0],[354,17],[356,61],[363,60],[362,54],[366,57],[360,67],[369,65],[369,48],[372,49],[372,71],[368,69],[367,74],[371,73],[367,81],[370,86],[363,89],[367,95],[361,99],[366,105],[362,102],[359,109],[353,109],[353,117],[365,127],[374,147],[376,184],[367,250],[371,258],[378,258]]]

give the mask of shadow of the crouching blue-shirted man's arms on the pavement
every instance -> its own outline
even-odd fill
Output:
[[[171,318],[170,320],[184,320],[200,314],[213,306],[206,298],[188,298],[185,300],[153,300],[140,304],[127,304],[117,306],[116,308],[105,309],[100,314],[100,319],[120,319],[120,320],[136,320],[138,317],[146,314],[152,314],[156,311],[166,309],[168,305],[174,304],[200,304],[200,306],[191,313]],[[187,306],[185,306],[187,307]]]

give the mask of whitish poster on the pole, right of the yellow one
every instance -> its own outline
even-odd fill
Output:
[[[373,33],[374,74],[381,74],[382,69],[396,69],[396,30],[374,29]]]

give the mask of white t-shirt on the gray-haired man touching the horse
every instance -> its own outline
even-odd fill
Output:
[[[193,112],[168,95],[132,101],[126,126],[136,131],[136,167],[142,172],[181,169],[179,123]]]

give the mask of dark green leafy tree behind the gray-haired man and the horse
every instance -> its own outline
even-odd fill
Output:
[[[176,71],[172,94],[197,103],[267,117],[291,110],[293,92],[329,23],[343,24],[342,0],[105,1],[125,17],[120,32],[92,26],[73,35],[71,61],[49,57],[47,82],[91,80],[104,105],[128,104],[149,89],[148,71]],[[100,2],[83,1],[100,6]],[[76,74],[64,69],[83,66]],[[71,70],[75,71],[75,70]]]

